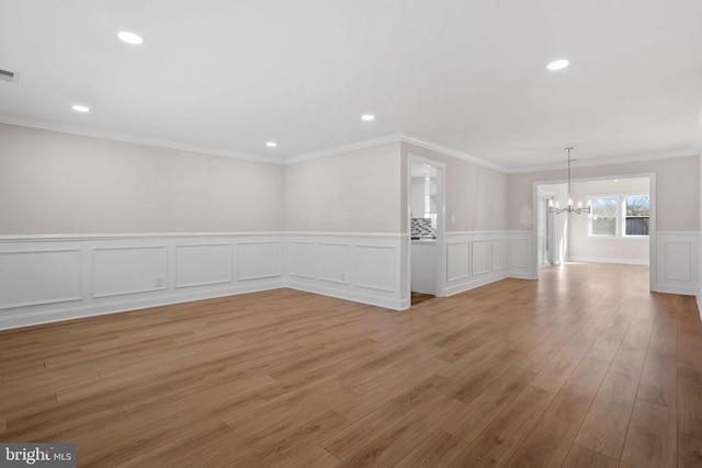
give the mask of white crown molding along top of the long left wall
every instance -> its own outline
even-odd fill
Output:
[[[248,161],[270,162],[281,164],[280,159],[263,158],[246,152],[230,151],[220,148],[212,148],[202,145],[192,145],[181,141],[173,141],[162,138],[150,138],[139,135],[110,132],[98,128],[90,128],[76,125],[59,124],[56,122],[42,121],[37,118],[19,117],[14,115],[0,114],[0,124],[19,125],[22,127],[38,128],[42,130],[59,132],[63,134],[80,135],[92,138],[104,138],[114,141],[133,142],[137,145],[155,146],[158,148],[176,149],[180,151],[196,152],[201,155],[223,156],[225,158],[245,159]]]

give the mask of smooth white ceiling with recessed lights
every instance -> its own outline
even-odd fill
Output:
[[[0,0],[20,77],[0,122],[279,161],[400,134],[506,170],[566,146],[698,155],[700,19],[701,0]]]

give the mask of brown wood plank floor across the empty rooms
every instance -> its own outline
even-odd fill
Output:
[[[0,332],[0,441],[79,466],[702,466],[702,323],[642,266],[404,312],[279,289]]]

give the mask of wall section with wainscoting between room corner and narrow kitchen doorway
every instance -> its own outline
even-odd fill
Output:
[[[286,284],[409,307],[399,142],[285,167]]]

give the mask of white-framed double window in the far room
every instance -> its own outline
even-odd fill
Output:
[[[588,236],[648,236],[650,201],[648,195],[607,195],[588,198]]]

